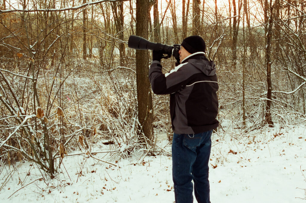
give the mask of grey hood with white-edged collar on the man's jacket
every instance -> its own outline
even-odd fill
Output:
[[[184,62],[188,62],[202,71],[207,76],[213,76],[216,74],[216,65],[213,61],[210,61],[204,52],[196,52],[186,57]]]

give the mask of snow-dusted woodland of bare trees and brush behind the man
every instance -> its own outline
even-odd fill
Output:
[[[163,153],[156,137],[172,140],[169,96],[152,94],[151,51],[129,49],[130,35],[168,45],[203,37],[219,82],[215,133],[239,140],[275,122],[305,123],[306,2],[222,3],[3,0],[2,166],[29,160],[53,178],[75,150],[113,165],[139,148],[141,156]],[[174,61],[162,61],[165,73]],[[95,157],[99,141],[111,159]]]

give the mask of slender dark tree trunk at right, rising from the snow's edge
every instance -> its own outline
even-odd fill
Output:
[[[266,1],[267,2],[267,1]],[[267,5],[267,6],[266,6]],[[268,16],[268,8],[270,9],[270,17]],[[272,41],[272,28],[273,28],[273,7],[272,0],[270,0],[270,6],[265,4],[265,20],[267,19],[267,44],[266,44],[266,66],[267,66],[267,106],[266,106],[266,116],[265,122],[269,124],[269,127],[273,127],[274,123],[271,116],[271,103],[272,103],[272,82],[271,82],[271,41]]]

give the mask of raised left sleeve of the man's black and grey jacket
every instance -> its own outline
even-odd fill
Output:
[[[159,61],[153,61],[149,69],[152,90],[157,95],[172,94],[186,87],[190,73],[186,71],[187,63],[180,64],[170,73],[162,73]]]

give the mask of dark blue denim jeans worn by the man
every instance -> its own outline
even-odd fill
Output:
[[[173,134],[172,177],[175,203],[192,203],[192,180],[198,203],[210,203],[208,161],[212,130],[198,134]]]

